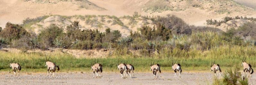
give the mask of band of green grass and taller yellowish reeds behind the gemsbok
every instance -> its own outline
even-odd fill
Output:
[[[48,53],[51,54],[51,53]],[[23,72],[45,72],[45,54],[40,52],[31,53],[10,53],[0,51],[0,71],[10,71],[10,59],[15,58],[14,62],[21,64]],[[172,60],[177,60],[185,71],[207,71],[210,70],[212,60],[220,64],[223,71],[236,66],[240,67],[243,56],[247,57],[247,63],[256,66],[255,47],[241,46],[221,46],[212,48],[209,51],[198,50],[176,50],[167,55],[155,54],[152,57],[137,57],[132,55],[111,56],[99,58],[99,63],[103,65],[105,72],[117,72],[117,61],[133,64],[136,72],[149,72],[150,61],[155,59],[155,64],[160,64],[163,72],[170,72]],[[75,58],[66,53],[52,53],[50,61],[55,62],[60,67],[60,72],[90,72],[93,58]],[[152,61],[153,63],[153,61]],[[242,68],[242,67],[241,67]]]

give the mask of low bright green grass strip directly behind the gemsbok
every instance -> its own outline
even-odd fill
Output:
[[[255,50],[255,49],[253,49]],[[163,58],[157,57],[131,57],[131,56],[116,56],[109,58],[99,58],[99,62],[103,65],[104,71],[118,71],[116,68],[116,64],[118,59],[123,60],[122,63],[129,63],[135,66],[136,72],[149,72],[150,60],[155,60],[155,64],[158,63],[161,65],[163,72],[171,71],[171,61],[177,60],[177,63],[182,65],[183,72],[186,71],[210,71],[210,63],[211,60],[218,59],[216,63],[222,64],[221,68],[223,71],[230,69],[230,67],[241,66],[241,60],[243,54],[237,54],[236,57],[230,57],[225,59],[225,56],[215,56],[213,53],[216,53],[218,50],[212,53],[212,55],[200,55],[200,53],[189,53],[189,55],[193,55],[192,57],[179,57],[179,56],[166,56]],[[221,52],[220,52],[221,53]],[[227,54],[227,53],[226,53]],[[49,54],[47,54],[49,55]],[[183,55],[183,54],[181,54]],[[199,55],[199,56],[195,56]],[[22,66],[22,72],[45,72],[45,54],[40,52],[31,52],[31,53],[10,53],[0,51],[0,71],[10,71],[9,63],[11,58],[15,58],[14,62],[20,63]],[[202,57],[205,56],[205,57]],[[233,55],[232,55],[233,56]],[[212,58],[213,57],[213,58]],[[178,59],[179,58],[179,59]],[[223,60],[221,60],[223,59]],[[256,65],[254,62],[255,55],[253,57],[247,58],[250,64]],[[52,56],[50,61],[55,62],[58,66],[60,66],[60,72],[70,72],[70,71],[83,71],[89,72],[91,62],[94,61],[93,58],[75,58],[72,55],[62,53],[62,52],[52,52]],[[241,67],[242,68],[242,67]],[[39,70],[35,70],[39,69]]]

